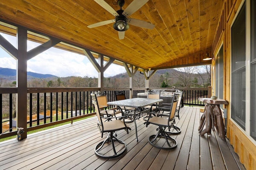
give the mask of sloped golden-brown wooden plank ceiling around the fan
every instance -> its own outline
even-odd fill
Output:
[[[105,0],[119,10],[117,0]],[[124,9],[133,0],[125,0]],[[4,0],[0,18],[142,69],[204,64],[211,53],[223,0],[149,0],[129,18],[155,25],[130,25],[119,40],[113,24],[88,25],[114,16],[94,0]],[[206,63],[209,63],[206,62]]]

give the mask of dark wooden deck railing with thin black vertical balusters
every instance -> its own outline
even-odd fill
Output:
[[[95,115],[90,94],[99,90],[100,88],[28,88],[25,110],[27,130],[36,130],[64,122],[72,123],[75,119]],[[131,89],[105,89],[108,101],[116,100],[114,94],[116,90],[124,90],[128,99],[130,96],[135,98],[138,93],[147,92],[148,89],[138,88],[133,91]],[[184,105],[189,106],[204,105],[197,99],[208,95],[207,88],[179,88],[179,90],[183,91]],[[0,138],[16,135],[16,94],[17,88],[0,87],[0,132],[8,131]]]

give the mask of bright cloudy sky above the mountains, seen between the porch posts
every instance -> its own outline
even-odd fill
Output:
[[[0,33],[14,47],[16,37]],[[28,51],[40,45],[28,41]],[[41,74],[52,74],[58,77],[80,76],[98,77],[98,72],[85,55],[80,55],[52,47],[28,60],[27,71]],[[16,69],[16,60],[0,47],[0,67]],[[125,73],[123,66],[111,64],[104,72],[104,77]]]

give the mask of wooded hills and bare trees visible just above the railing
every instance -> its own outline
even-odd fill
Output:
[[[137,71],[133,80],[134,88],[145,87],[143,73]],[[210,85],[210,80],[210,65],[165,69],[156,71],[149,79],[149,87],[207,87]],[[129,77],[127,73],[104,77],[104,87],[106,88],[129,88],[128,82]],[[0,78],[0,87],[16,87],[16,81],[10,82],[7,79]],[[34,78],[28,80],[28,87],[98,87],[98,78],[88,76]]]

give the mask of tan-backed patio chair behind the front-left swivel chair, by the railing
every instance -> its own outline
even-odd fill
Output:
[[[121,113],[119,110],[109,109],[106,91],[94,91],[94,94],[96,94],[101,115],[106,117],[116,117],[116,114]]]

